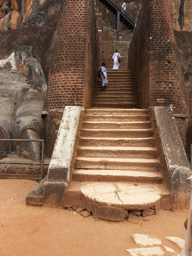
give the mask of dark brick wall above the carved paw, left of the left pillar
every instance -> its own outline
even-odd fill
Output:
[[[10,29],[0,32],[0,59],[8,57],[19,46],[32,46],[32,56],[40,62],[47,81],[56,21],[57,17],[50,16],[42,27]]]

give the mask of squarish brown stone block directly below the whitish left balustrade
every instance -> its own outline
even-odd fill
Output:
[[[62,208],[64,201],[64,191],[67,188],[67,182],[45,181],[43,192],[43,206]]]

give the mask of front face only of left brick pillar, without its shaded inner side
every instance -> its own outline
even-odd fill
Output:
[[[54,34],[45,109],[82,105],[87,74],[88,0],[62,0]]]

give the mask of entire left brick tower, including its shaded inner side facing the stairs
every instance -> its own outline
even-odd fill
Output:
[[[55,109],[58,114],[65,105],[91,105],[100,55],[92,0],[63,0],[59,16],[44,106],[49,113]],[[49,126],[45,136],[46,154],[51,155],[56,125],[49,114],[45,123]]]

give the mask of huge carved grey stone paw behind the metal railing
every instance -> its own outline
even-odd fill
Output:
[[[0,70],[0,138],[42,139],[44,93],[33,81],[16,70]],[[2,142],[1,151],[40,151],[39,142]],[[0,153],[0,158],[3,157]],[[18,153],[17,155],[20,155]],[[35,161],[39,153],[30,153]]]

